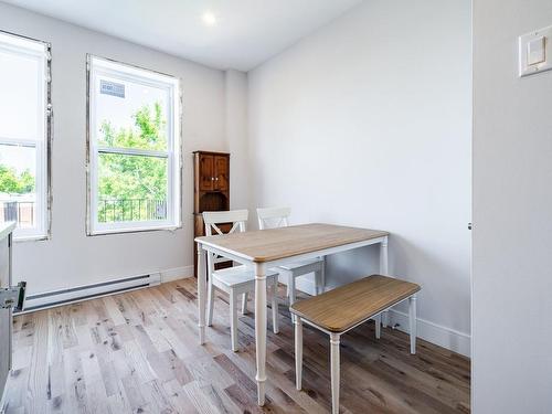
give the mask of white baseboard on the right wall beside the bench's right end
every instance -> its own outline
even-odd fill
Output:
[[[408,333],[408,315],[391,309],[391,326],[399,323],[396,329]],[[417,337],[439,347],[449,349],[465,357],[471,355],[471,337],[467,333],[417,318]]]

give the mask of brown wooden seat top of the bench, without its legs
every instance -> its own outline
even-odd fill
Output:
[[[330,332],[344,332],[420,289],[410,282],[372,275],[298,301],[290,311]]]

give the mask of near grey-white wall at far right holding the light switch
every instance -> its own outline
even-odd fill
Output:
[[[518,77],[550,0],[474,1],[474,413],[552,412],[552,72]]]

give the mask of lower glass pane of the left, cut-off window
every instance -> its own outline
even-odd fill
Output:
[[[36,226],[36,152],[33,147],[0,145],[0,222]]]

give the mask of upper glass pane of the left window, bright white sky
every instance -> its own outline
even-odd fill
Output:
[[[42,60],[0,45],[0,137],[43,139]]]

